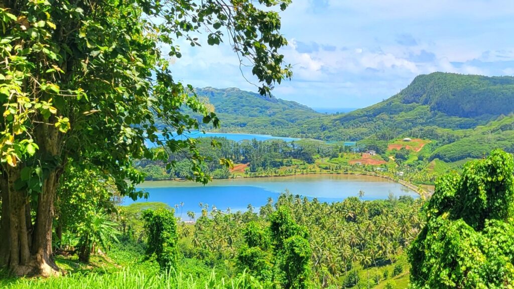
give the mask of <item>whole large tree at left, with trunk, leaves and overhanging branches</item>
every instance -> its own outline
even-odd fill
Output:
[[[142,196],[134,185],[143,175],[132,165],[143,156],[187,154],[189,177],[208,182],[197,141],[172,139],[172,132],[200,128],[184,107],[203,115],[201,122],[217,126],[219,120],[193,87],[173,79],[161,47],[180,58],[180,41],[200,46],[197,35],[208,31],[207,43],[217,45],[225,29],[242,64],[262,83],[260,93],[269,93],[292,74],[278,53],[286,44],[279,14],[261,7],[284,10],[289,2],[2,2],[0,267],[17,275],[59,270],[52,260],[52,219],[67,164],[100,167],[132,198]],[[147,139],[166,151],[146,148]]]

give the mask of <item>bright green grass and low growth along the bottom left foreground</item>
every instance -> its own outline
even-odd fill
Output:
[[[152,259],[144,259],[142,247],[118,245],[107,256],[93,256],[90,264],[76,256],[57,257],[64,275],[51,278],[16,278],[0,272],[2,289],[249,289],[262,288],[255,278],[241,274],[219,276],[215,269],[184,259],[177,271],[160,272]],[[194,277],[193,277],[194,276]]]

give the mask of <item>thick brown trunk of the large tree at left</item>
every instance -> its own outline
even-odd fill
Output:
[[[38,146],[43,156],[59,159],[58,130],[43,125],[35,130]],[[24,164],[8,165],[0,172],[0,194],[2,196],[2,220],[0,220],[0,267],[11,273],[23,275],[51,276],[59,274],[52,259],[53,202],[61,168],[42,164],[48,172],[38,196],[35,224],[32,226],[30,199],[27,190],[17,190],[15,182],[20,178]]]

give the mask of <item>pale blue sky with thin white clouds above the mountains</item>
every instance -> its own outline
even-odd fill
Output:
[[[294,75],[273,95],[311,107],[365,107],[434,71],[514,75],[512,0],[293,0],[281,18]],[[176,80],[257,92],[228,44],[180,48]]]

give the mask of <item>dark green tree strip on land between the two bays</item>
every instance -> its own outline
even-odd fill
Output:
[[[302,172],[305,166],[315,164],[319,158],[329,158],[344,147],[337,144],[329,144],[321,141],[299,140],[286,142],[284,140],[256,139],[234,141],[224,137],[198,138],[199,152],[205,156],[203,169],[212,173],[215,178],[229,178],[232,176],[219,159],[230,159],[235,164],[247,164],[248,169],[240,172],[244,176],[259,176],[262,174],[286,173],[280,169],[287,168],[288,174],[295,171]],[[212,148],[211,143],[216,143]],[[174,179],[188,178],[194,175],[189,170],[189,158],[187,156],[170,156],[170,161],[175,162],[175,167],[166,170],[166,164],[158,160],[141,159],[137,161],[137,168],[146,173],[145,179]],[[330,169],[330,168],[329,168]]]

